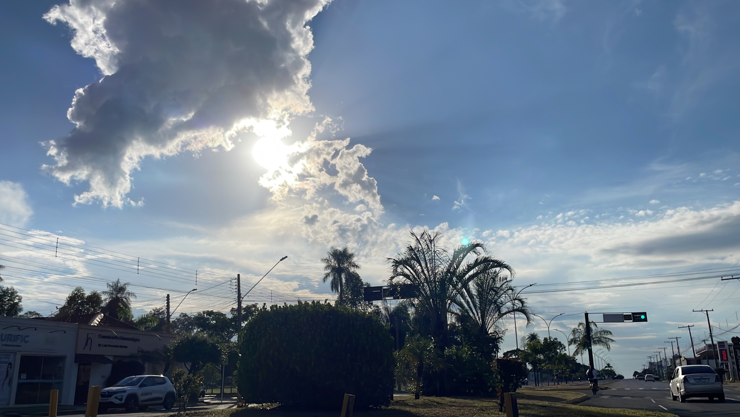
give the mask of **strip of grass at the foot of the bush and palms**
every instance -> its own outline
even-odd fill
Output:
[[[518,393],[519,394],[519,393]],[[573,398],[573,393],[548,391],[543,396],[522,393],[519,396],[521,417],[676,417],[670,413],[654,413],[624,408],[583,407],[552,401]],[[552,399],[552,401],[543,401]],[[420,400],[400,399],[380,410],[355,410],[353,417],[502,417],[497,399],[422,397]],[[339,417],[339,411],[291,411],[278,408],[246,407],[238,410],[212,410],[187,413],[186,417]],[[174,415],[173,415],[174,416]]]

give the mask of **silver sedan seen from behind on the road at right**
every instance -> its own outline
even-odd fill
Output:
[[[724,387],[719,375],[708,365],[676,367],[670,379],[670,399],[686,402],[687,398],[707,397],[724,402]]]

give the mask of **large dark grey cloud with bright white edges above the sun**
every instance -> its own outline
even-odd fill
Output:
[[[326,0],[70,0],[44,18],[67,24],[73,49],[95,59],[100,81],[78,89],[69,135],[46,143],[58,180],[87,181],[76,203],[132,203],[131,173],[144,157],[232,149],[261,121],[285,125],[312,111],[313,48],[306,23]],[[365,149],[340,157],[364,156]],[[340,181],[348,197],[371,190]]]

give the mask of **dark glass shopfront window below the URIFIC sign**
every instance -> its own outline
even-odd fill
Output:
[[[16,404],[47,404],[63,379],[64,356],[21,356]]]

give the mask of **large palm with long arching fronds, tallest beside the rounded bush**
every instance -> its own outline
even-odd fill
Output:
[[[418,288],[415,307],[431,320],[431,335],[440,352],[448,348],[448,315],[453,304],[465,294],[463,288],[495,269],[514,269],[501,260],[482,254],[480,242],[460,245],[451,251],[438,245],[442,234],[411,231],[411,243],[402,253],[388,258],[391,264],[389,285],[413,284]],[[471,259],[472,258],[472,259]],[[488,314],[488,313],[487,313]],[[486,316],[488,319],[488,316]],[[488,322],[483,325],[488,325]]]

